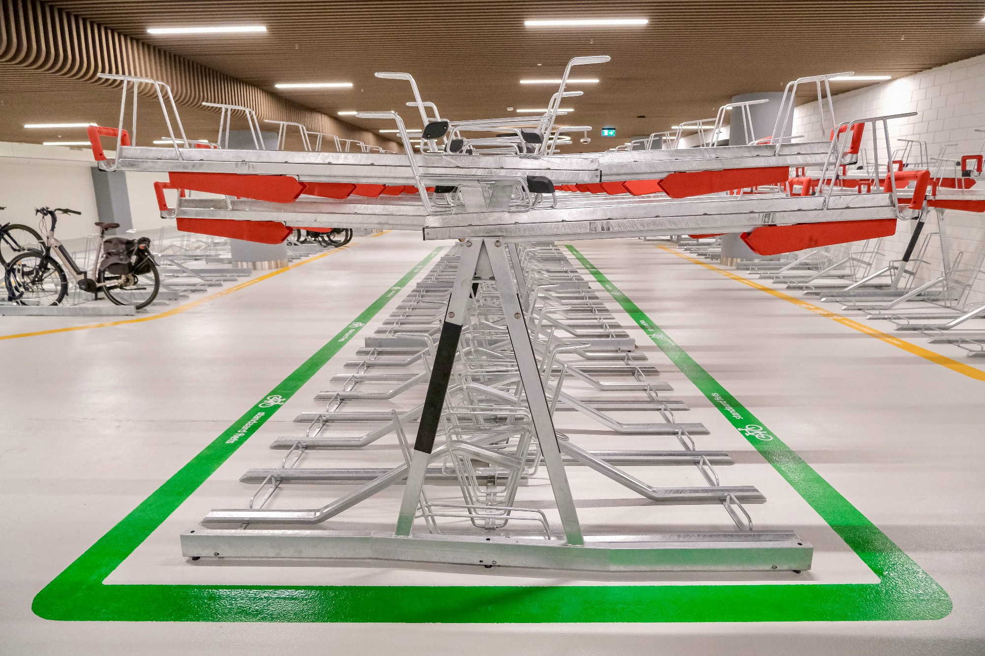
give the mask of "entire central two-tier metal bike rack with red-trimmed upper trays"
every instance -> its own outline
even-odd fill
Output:
[[[423,135],[421,153],[395,112],[358,116],[395,124],[403,154],[318,152],[321,137],[313,148],[315,133],[291,122],[278,122],[279,148],[296,129],[303,151],[119,145],[113,165],[120,169],[167,171],[175,186],[225,196],[179,197],[167,209],[179,221],[396,228],[423,230],[426,239],[460,239],[365,338],[361,360],[347,363],[350,372],[318,395],[323,409],[298,417],[305,435],[275,441],[287,451],[280,467],[244,476],[259,486],[247,507],[210,512],[204,530],[182,535],[183,554],[596,571],[810,567],[813,549],[794,533],[753,528],[745,505],[764,496],[753,486],[724,482],[715,468],[732,462],[728,453],[697,448],[707,428],[680,421],[687,405],[662,396],[672,390],[656,379],[660,371],[644,363],[597,288],[552,242],[742,232],[768,249],[782,245],[770,235],[823,228],[815,224],[854,222],[886,233],[886,222],[894,228],[907,211],[897,199],[911,171],[886,166],[886,183],[866,193],[846,187],[842,171],[861,161],[866,124],[873,170],[880,171],[881,140],[884,162],[891,163],[886,123],[904,115],[836,124],[832,114],[831,139],[815,143],[791,143],[777,129],[768,143],[746,146],[551,154],[562,130],[584,128],[556,126],[562,101],[580,95],[565,91],[568,72],[603,61],[608,57],[568,62],[543,115],[448,120],[447,138]],[[380,77],[412,84],[412,106],[426,130],[446,120],[421,98],[409,74]],[[792,111],[799,84],[815,83],[821,94],[829,77],[791,83],[781,111]],[[715,138],[730,108],[748,112],[751,104],[725,105],[715,119],[698,123],[710,122]],[[452,149],[457,140],[460,148]],[[820,168],[817,184],[803,182],[795,195],[790,168],[808,166]],[[239,174],[244,167],[248,175]],[[700,252],[715,254],[707,246]],[[623,413],[646,414],[640,421]],[[556,420],[561,426],[575,417],[575,426],[591,426],[605,440],[604,451],[587,450],[580,428],[556,428]],[[413,442],[411,426],[417,426]],[[401,456],[389,468],[309,466],[319,454],[392,437]],[[632,440],[657,448],[642,450]],[[627,465],[661,465],[667,483],[651,485],[626,472]],[[566,473],[574,466],[649,503],[721,506],[716,516],[734,528],[586,538]],[[697,485],[676,485],[673,471],[688,471]],[[354,487],[318,507],[269,507],[285,502],[288,484],[297,482]],[[531,489],[532,482],[552,492],[556,510],[523,500],[521,488]],[[392,524],[376,531],[332,528],[339,513],[398,484],[399,511],[390,510],[395,530]],[[314,524],[322,526],[310,528]]]

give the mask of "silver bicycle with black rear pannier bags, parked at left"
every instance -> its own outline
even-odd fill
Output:
[[[35,214],[41,215],[41,229],[44,218],[51,220],[50,227],[41,240],[40,250],[27,250],[14,257],[4,272],[4,283],[10,300],[22,305],[57,305],[68,293],[67,268],[76,285],[83,292],[99,297],[102,292],[116,305],[134,305],[143,309],[150,305],[161,289],[161,275],[151,255],[151,240],[141,237],[136,241],[124,237],[103,239],[106,230],[119,228],[119,224],[96,222],[99,228],[99,246],[93,261],[92,274],[76,264],[72,255],[61,241],[55,238],[57,214],[81,215],[81,212],[68,208],[38,208]],[[51,255],[54,253],[62,267]],[[100,254],[105,256],[100,261]]]

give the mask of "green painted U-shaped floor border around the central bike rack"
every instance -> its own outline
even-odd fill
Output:
[[[569,246],[569,248],[571,248]],[[437,251],[69,565],[34,598],[48,620],[118,622],[810,622],[938,620],[947,593],[793,451],[692,361],[577,250],[657,345],[873,568],[878,584],[646,586],[107,585],[103,580],[262,426],[315,371],[421,271]],[[271,398],[275,397],[275,398]],[[267,410],[262,404],[271,405]],[[731,409],[731,410],[729,410]],[[748,421],[747,421],[748,420]],[[252,423],[252,424],[251,424]],[[249,425],[249,426],[247,426]],[[737,426],[739,427],[739,426]],[[758,435],[758,437],[756,436]],[[765,437],[771,439],[765,439]],[[761,442],[757,443],[757,442]]]

